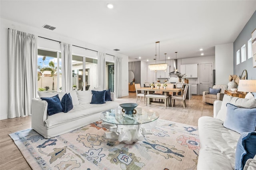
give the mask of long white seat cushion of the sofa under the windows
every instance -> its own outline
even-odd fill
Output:
[[[96,113],[99,113],[108,109],[112,109],[118,106],[119,106],[119,103],[114,101],[106,101],[106,103],[104,104],[87,103],[83,105],[76,105],[68,113],[61,112],[61,113],[56,113],[52,116],[48,116],[45,121],[46,128],[52,128],[58,125],[62,125],[69,121],[74,121],[76,119],[80,119],[81,117],[86,117],[88,115],[96,114]]]

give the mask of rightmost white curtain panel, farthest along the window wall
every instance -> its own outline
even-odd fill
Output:
[[[115,75],[115,93],[116,98],[121,96],[121,73],[122,73],[122,57],[115,56],[114,75]]]

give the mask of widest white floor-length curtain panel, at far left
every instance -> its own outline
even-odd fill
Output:
[[[37,36],[9,29],[8,118],[31,115],[37,91]]]

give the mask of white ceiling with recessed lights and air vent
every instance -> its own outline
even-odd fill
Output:
[[[164,53],[174,59],[175,51],[177,59],[200,57],[200,48],[204,56],[215,55],[215,45],[236,40],[256,0],[1,0],[0,6],[1,18],[36,28],[48,24],[57,34],[120,49],[129,61],[154,61],[156,41],[160,60]]]

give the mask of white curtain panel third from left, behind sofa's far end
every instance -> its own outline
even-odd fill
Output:
[[[106,57],[105,53],[98,52],[98,85],[100,89],[106,90]]]

